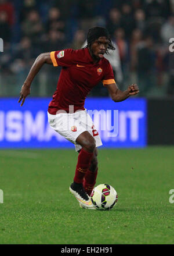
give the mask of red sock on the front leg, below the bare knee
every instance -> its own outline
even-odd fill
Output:
[[[85,173],[90,166],[90,161],[92,157],[93,153],[87,152],[83,148],[81,149],[78,155],[78,162],[75,169],[74,182],[83,183]]]

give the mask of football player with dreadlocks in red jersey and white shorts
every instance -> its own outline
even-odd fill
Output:
[[[79,152],[74,181],[70,192],[77,198],[82,208],[95,209],[90,193],[97,177],[97,147],[102,145],[99,133],[84,108],[85,98],[99,81],[106,86],[111,99],[124,101],[130,95],[139,93],[136,84],[126,91],[118,89],[113,69],[106,58],[108,49],[114,50],[108,31],[103,27],[89,29],[87,46],[82,49],[64,49],[38,56],[21,87],[21,106],[28,94],[32,80],[44,63],[61,66],[61,73],[53,99],[48,107],[50,126],[67,140],[75,144]]]

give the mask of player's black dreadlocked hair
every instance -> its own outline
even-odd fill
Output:
[[[113,45],[113,42],[111,41],[110,34],[108,33],[107,29],[104,27],[92,27],[91,29],[88,30],[88,35],[87,35],[87,45],[85,48],[89,47],[92,45],[92,43],[98,39],[99,37],[106,37],[108,40],[108,47],[106,49],[106,54],[108,54],[108,50],[115,50],[115,47]]]

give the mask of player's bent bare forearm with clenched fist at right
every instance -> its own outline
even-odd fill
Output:
[[[107,84],[106,87],[111,99],[113,99],[115,102],[124,101],[129,96],[139,93],[139,87],[137,84],[131,84],[125,91],[119,90],[116,83]]]

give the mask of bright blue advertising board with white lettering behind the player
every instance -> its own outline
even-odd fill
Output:
[[[0,99],[0,148],[73,148],[74,144],[56,133],[48,123],[50,98]],[[102,148],[146,147],[147,102],[129,98],[87,98],[85,108],[95,123]]]

